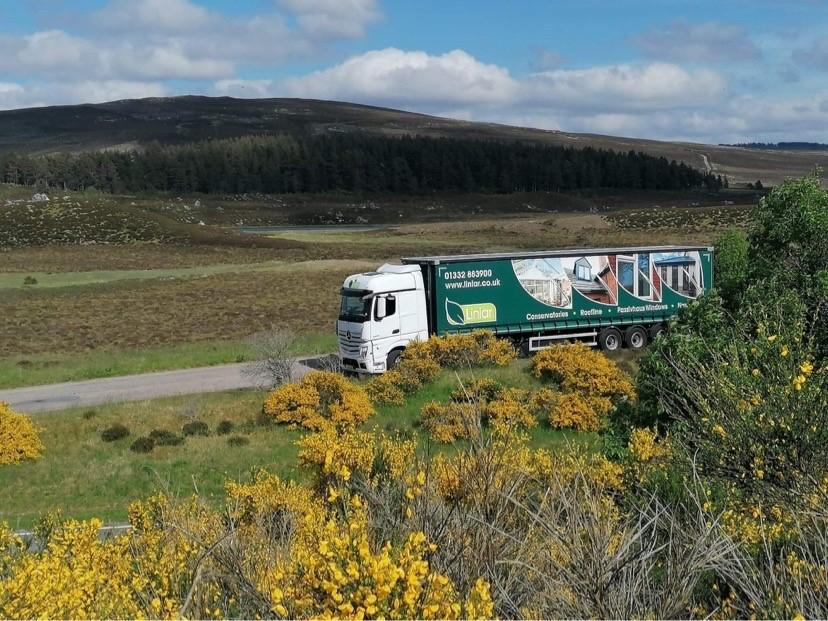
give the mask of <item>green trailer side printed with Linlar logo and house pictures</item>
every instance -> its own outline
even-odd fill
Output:
[[[412,257],[429,329],[520,335],[666,321],[713,285],[713,249],[651,246]]]

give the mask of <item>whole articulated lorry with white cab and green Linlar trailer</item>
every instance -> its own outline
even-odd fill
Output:
[[[640,349],[712,284],[706,246],[408,257],[345,279],[339,354],[382,373],[411,341],[479,329],[527,354],[561,339]]]

